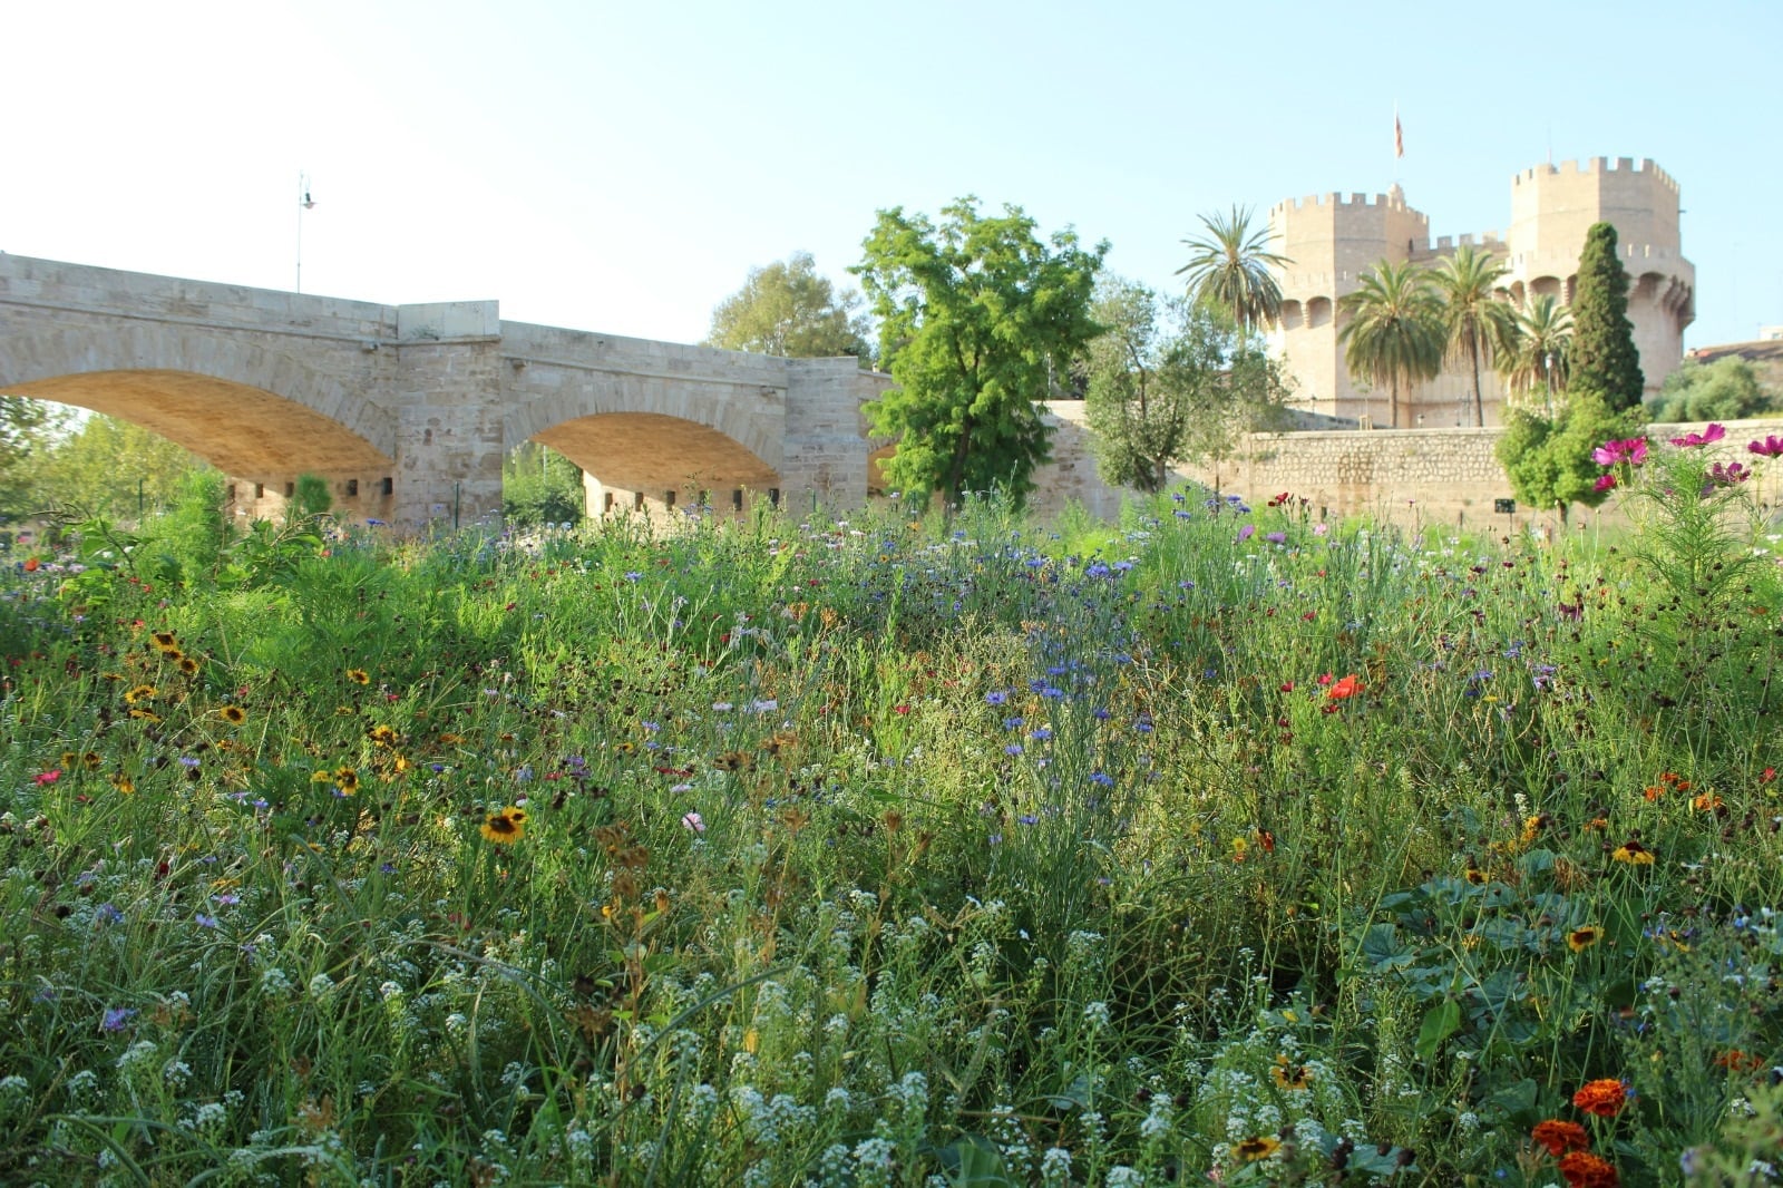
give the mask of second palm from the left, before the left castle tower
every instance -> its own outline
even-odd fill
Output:
[[[1442,307],[1430,293],[1430,275],[1410,260],[1382,260],[1337,305],[1350,314],[1337,332],[1344,367],[1387,385],[1393,428],[1400,428],[1400,389],[1442,371]]]

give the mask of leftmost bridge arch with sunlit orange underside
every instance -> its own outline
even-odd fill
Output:
[[[164,323],[0,334],[0,391],[134,421],[228,474],[390,471],[396,416],[291,355]]]

